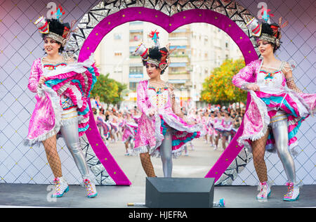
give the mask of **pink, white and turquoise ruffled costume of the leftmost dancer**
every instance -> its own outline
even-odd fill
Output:
[[[83,63],[61,63],[53,70],[44,66],[41,58],[34,60],[28,88],[37,93],[37,103],[29,121],[27,141],[30,144],[45,141],[58,133],[61,126],[77,121],[79,136],[82,136],[88,129],[90,109],[87,99],[98,75],[92,57]],[[42,76],[47,79],[39,88],[38,82]],[[78,117],[63,117],[65,110],[68,110],[67,113],[77,112]]]

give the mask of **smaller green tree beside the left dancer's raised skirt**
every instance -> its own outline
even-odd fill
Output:
[[[121,98],[121,91],[127,88],[126,84],[121,84],[119,81],[109,78],[109,73],[100,74],[98,81],[91,91],[91,96],[100,96],[100,102],[116,105]]]

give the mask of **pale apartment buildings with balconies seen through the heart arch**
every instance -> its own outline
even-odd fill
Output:
[[[211,70],[227,58],[242,57],[235,42],[213,25],[192,23],[169,34],[152,23],[125,23],[103,38],[95,58],[101,74],[110,73],[110,78],[128,86],[128,96],[124,97],[127,107],[136,104],[137,83],[147,79],[140,57],[133,52],[141,42],[147,47],[154,44],[147,37],[152,30],[159,32],[160,46],[170,44],[170,48],[176,48],[162,80],[176,87],[176,98],[183,106],[201,105],[202,83]]]

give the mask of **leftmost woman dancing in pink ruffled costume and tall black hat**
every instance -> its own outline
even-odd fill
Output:
[[[96,197],[98,193],[91,181],[79,136],[88,129],[87,99],[99,75],[98,69],[92,55],[83,63],[77,63],[74,57],[63,53],[72,28],[68,23],[41,17],[34,24],[42,33],[46,56],[34,60],[29,76],[28,89],[37,93],[37,103],[29,121],[27,143],[44,144],[55,177],[53,197],[62,197],[69,190],[56,148],[57,136],[62,136],[81,173],[88,197]]]

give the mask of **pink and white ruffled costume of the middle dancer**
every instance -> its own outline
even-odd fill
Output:
[[[201,124],[187,124],[173,112],[168,87],[164,91],[156,92],[149,87],[148,80],[140,81],[137,88],[137,105],[142,115],[138,119],[134,152],[149,152],[152,156],[159,156],[159,147],[164,140],[166,129],[171,127],[172,155],[178,157],[185,143],[204,134]],[[152,117],[149,116],[150,109],[157,109]]]

